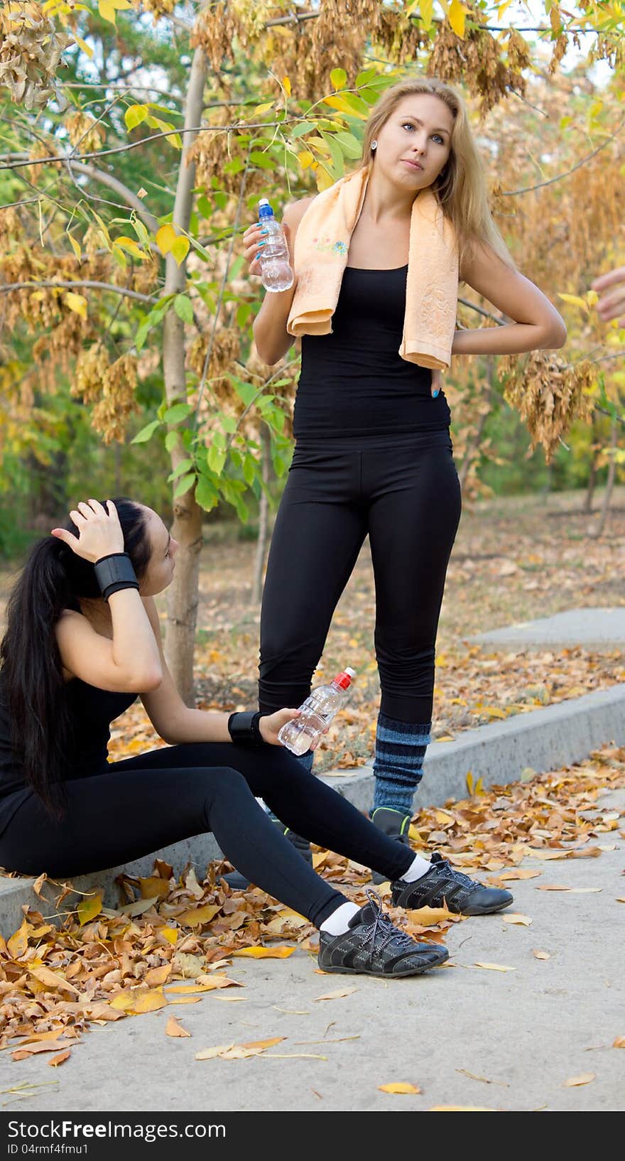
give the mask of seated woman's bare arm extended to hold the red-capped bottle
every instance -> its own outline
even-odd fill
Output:
[[[172,745],[183,742],[230,742],[230,713],[217,709],[190,709],[177,692],[162,651],[159,614],[152,597],[144,597],[153,640],[160,654],[162,680],[157,688],[141,693],[141,701],[157,734]],[[297,709],[278,709],[260,719],[259,728],[266,742],[279,744],[277,731],[284,722],[296,717]]]

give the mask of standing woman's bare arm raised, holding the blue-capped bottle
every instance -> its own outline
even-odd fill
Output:
[[[286,226],[284,233],[289,241],[291,266],[293,265],[297,229],[312,201],[312,197],[303,197],[298,202],[292,202],[284,210],[282,224]],[[262,241],[260,226],[250,226],[244,237],[246,240],[246,258],[250,262],[249,273],[260,274],[260,265],[256,260],[257,244]],[[266,293],[262,307],[254,319],[253,331],[256,351],[263,362],[270,367],[279,362],[281,359],[284,359],[284,355],[293,342],[293,336],[286,331],[286,323],[296,289],[297,275],[290,290],[282,290],[277,294]]]

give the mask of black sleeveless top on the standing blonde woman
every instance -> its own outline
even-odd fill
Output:
[[[431,372],[399,355],[407,273],[346,267],[332,334],[301,337],[296,439],[449,428],[444,392],[431,397]]]

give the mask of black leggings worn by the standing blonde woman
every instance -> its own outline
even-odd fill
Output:
[[[267,567],[259,705],[308,695],[332,615],[369,533],[381,712],[429,722],[460,485],[449,432],[299,441]],[[346,664],[349,658],[346,657]]]

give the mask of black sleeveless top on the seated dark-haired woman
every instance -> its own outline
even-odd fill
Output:
[[[64,779],[89,778],[103,773],[107,769],[110,723],[137,700],[137,694],[109,693],[87,685],[78,677],[67,682],[64,692],[73,726]],[[13,748],[10,717],[0,673],[0,834],[30,793]]]

